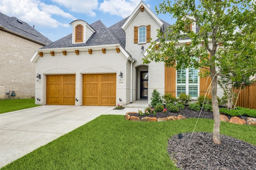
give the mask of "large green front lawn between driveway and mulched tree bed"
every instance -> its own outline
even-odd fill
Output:
[[[101,115],[2,169],[176,170],[167,141],[192,132],[196,121],[136,122]],[[195,131],[212,132],[213,123],[199,119]],[[220,132],[256,145],[256,126],[221,122]]]

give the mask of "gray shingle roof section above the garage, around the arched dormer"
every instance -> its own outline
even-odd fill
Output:
[[[87,40],[86,43],[72,44],[72,34],[63,37],[55,41],[54,43],[42,47],[41,49],[51,49],[51,48],[66,48],[66,47],[87,47],[94,45],[110,45],[119,44],[114,35],[110,30],[102,23],[102,21],[96,21],[90,26],[95,29],[95,33]]]

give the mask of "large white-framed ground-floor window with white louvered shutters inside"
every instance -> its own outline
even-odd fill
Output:
[[[189,94],[191,97],[198,97],[198,70],[195,68],[182,68],[176,73],[176,96],[180,93]]]

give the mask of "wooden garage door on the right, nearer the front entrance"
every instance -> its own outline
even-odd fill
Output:
[[[84,74],[83,105],[116,106],[116,74]]]

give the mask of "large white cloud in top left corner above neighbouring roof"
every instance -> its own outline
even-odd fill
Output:
[[[42,9],[42,10],[41,10]],[[14,16],[30,25],[56,28],[69,27],[69,24],[60,23],[53,19],[51,14],[65,18],[74,17],[53,5],[46,5],[39,0],[1,0],[0,10],[7,16]]]

